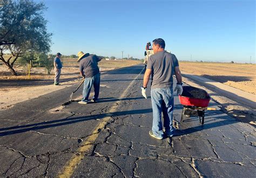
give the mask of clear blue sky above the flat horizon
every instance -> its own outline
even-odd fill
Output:
[[[144,58],[165,40],[178,60],[255,63],[255,1],[43,0],[51,53]]]

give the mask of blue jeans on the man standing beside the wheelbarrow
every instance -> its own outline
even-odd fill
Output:
[[[161,112],[164,115],[165,133],[172,136],[174,128],[172,127],[173,116],[173,89],[172,88],[153,88],[151,89],[151,101],[153,109],[152,131],[155,136],[163,137],[163,126],[161,122]]]

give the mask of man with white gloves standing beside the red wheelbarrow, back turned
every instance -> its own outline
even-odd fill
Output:
[[[174,54],[164,50],[165,41],[161,38],[153,40],[154,54],[147,61],[147,68],[144,74],[142,95],[146,98],[146,87],[151,82],[151,102],[153,109],[152,130],[149,132],[151,137],[163,139],[163,125],[161,123],[161,113],[164,116],[165,134],[172,137],[174,128],[172,126],[173,117],[173,79],[172,75],[176,75],[177,84],[174,91],[181,95],[183,89],[181,73],[179,70],[179,62]]]

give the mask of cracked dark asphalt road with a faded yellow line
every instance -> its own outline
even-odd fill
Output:
[[[255,128],[221,111],[206,111],[203,126],[197,117],[180,124],[182,105],[175,96],[180,135],[151,138],[151,100],[140,94],[142,69],[102,75],[99,103],[61,107],[77,87],[72,86],[1,111],[0,176],[256,175]],[[75,95],[81,94],[82,88]]]

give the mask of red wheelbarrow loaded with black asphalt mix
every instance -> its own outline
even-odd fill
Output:
[[[205,96],[204,98],[194,98],[186,95],[183,96],[184,92],[181,95],[179,95],[180,104],[183,105],[180,122],[182,123],[184,121],[185,116],[190,117],[190,115],[198,115],[199,123],[203,125],[204,119],[205,119],[205,110],[216,110],[216,109],[208,108],[208,104],[211,100],[211,97],[208,95],[208,93],[205,90],[199,89],[196,87],[190,87],[190,86],[183,87],[183,90],[186,90],[188,88],[198,89],[200,91],[203,91],[205,92]]]

